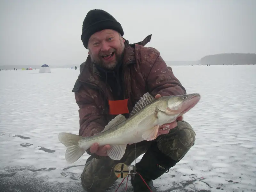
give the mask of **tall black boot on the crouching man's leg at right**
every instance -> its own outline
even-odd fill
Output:
[[[134,192],[150,192],[148,187],[152,192],[156,192],[156,188],[153,186],[152,180],[155,180],[165,172],[168,172],[176,163],[177,161],[174,161],[170,157],[164,155],[157,148],[156,143],[154,142],[144,154],[140,162],[136,164],[137,173],[131,178],[131,184]],[[138,173],[140,173],[148,186],[140,178]]]

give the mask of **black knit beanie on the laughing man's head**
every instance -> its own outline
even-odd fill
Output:
[[[92,34],[104,29],[113,29],[120,33],[121,36],[124,35],[121,24],[118,23],[108,12],[100,9],[93,9],[89,11],[84,18],[83,32],[81,35],[84,47],[88,49],[88,41]]]

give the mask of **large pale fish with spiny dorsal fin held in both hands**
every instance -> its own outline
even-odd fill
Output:
[[[129,118],[117,115],[99,134],[82,137],[61,132],[58,138],[67,147],[66,162],[76,162],[96,142],[99,146],[109,144],[111,148],[107,151],[108,156],[113,160],[120,160],[127,144],[155,140],[159,126],[176,121],[177,117],[195,107],[200,98],[199,93],[192,93],[155,99],[147,92],[135,104]]]

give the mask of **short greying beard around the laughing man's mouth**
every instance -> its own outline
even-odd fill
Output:
[[[116,57],[111,62],[104,61],[104,59],[101,56],[101,55],[108,54],[108,53],[100,53],[99,55],[96,55],[96,56],[94,56],[90,53],[90,57],[91,57],[92,62],[97,67],[100,67],[100,68],[103,68],[103,69],[106,69],[106,70],[114,70],[116,68],[117,64],[123,60],[123,56],[124,56],[124,43],[121,40],[120,40],[120,44],[121,44],[121,49],[119,51],[112,48],[108,52],[108,53],[113,53],[114,52],[114,55]]]

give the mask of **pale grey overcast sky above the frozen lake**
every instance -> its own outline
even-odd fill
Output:
[[[146,46],[166,61],[256,53],[256,0],[1,0],[0,65],[79,66],[88,55],[81,33],[91,9],[115,17],[130,43],[152,34]]]

